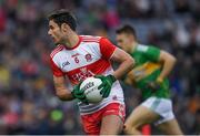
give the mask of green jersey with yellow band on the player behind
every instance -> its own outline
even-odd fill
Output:
[[[154,46],[138,44],[132,51],[131,56],[136,61],[133,69],[136,86],[142,91],[142,97],[144,100],[150,96],[169,98],[168,79],[163,80],[161,88],[158,91],[153,92],[147,87],[147,83],[156,81],[161,73],[162,65],[158,63],[160,50]]]

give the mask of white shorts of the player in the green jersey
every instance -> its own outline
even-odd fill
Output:
[[[153,96],[146,100],[141,105],[152,109],[161,116],[161,118],[157,121],[154,125],[159,125],[174,118],[171,100],[158,98]]]

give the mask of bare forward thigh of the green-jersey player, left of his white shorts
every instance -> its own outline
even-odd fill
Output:
[[[138,106],[126,121],[126,127],[138,128],[144,124],[149,124],[159,119],[159,115],[146,106]]]

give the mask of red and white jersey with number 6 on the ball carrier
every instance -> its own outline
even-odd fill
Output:
[[[71,85],[97,75],[108,75],[113,72],[110,63],[117,48],[106,38],[79,35],[79,42],[74,48],[58,45],[51,52],[51,69],[54,76],[67,76]],[[111,88],[109,97],[98,104],[84,105],[79,102],[81,114],[89,114],[103,108],[110,103],[123,104],[123,92],[117,81]]]

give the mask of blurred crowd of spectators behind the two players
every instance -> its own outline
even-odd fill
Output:
[[[141,43],[172,53],[176,116],[184,134],[200,134],[199,0],[0,0],[0,134],[83,134],[76,102],[56,97],[49,67],[46,17],[61,8],[76,14],[79,34],[116,43],[116,29],[128,23]],[[121,84],[129,115],[141,94]]]

